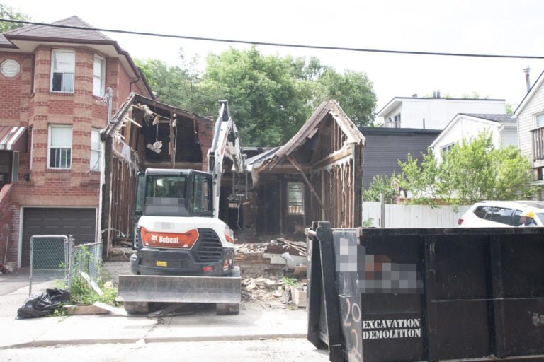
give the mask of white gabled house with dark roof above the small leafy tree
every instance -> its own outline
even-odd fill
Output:
[[[453,144],[462,139],[472,139],[480,132],[487,131],[492,136],[495,148],[502,146],[518,146],[518,125],[511,115],[456,115],[448,126],[431,144],[434,156],[442,161],[442,153],[448,151]]]

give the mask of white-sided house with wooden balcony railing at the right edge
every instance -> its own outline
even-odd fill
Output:
[[[518,142],[521,153],[531,160],[535,185],[540,185],[540,199],[544,199],[544,72],[521,101],[518,117]]]

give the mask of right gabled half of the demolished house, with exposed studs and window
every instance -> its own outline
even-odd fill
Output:
[[[317,220],[361,226],[364,144],[339,104],[323,102],[287,144],[246,160],[244,226],[255,235],[301,233]]]

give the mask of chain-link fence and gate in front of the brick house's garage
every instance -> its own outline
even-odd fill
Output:
[[[47,288],[71,289],[72,279],[100,278],[102,243],[75,244],[72,235],[35,235],[30,238],[28,295]]]

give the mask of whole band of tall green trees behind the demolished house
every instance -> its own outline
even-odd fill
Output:
[[[137,61],[157,98],[200,115],[215,117],[218,100],[229,100],[244,146],[285,144],[323,100],[339,101],[358,125],[373,122],[375,94],[363,73],[339,74],[317,58],[263,55],[256,47],[210,54],[203,74],[198,57],[182,66]]]

